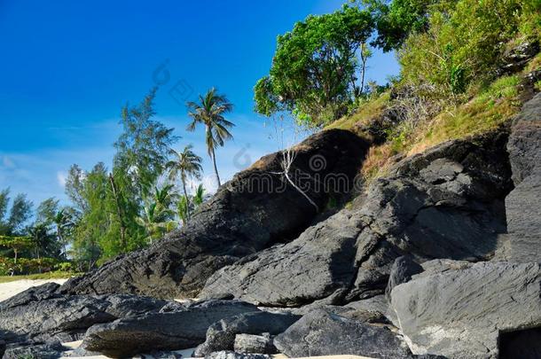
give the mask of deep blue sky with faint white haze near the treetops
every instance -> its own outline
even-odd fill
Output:
[[[0,188],[35,204],[65,200],[73,163],[110,164],[119,113],[161,84],[158,119],[205,158],[202,134],[184,131],[184,102],[216,86],[235,105],[235,140],[217,152],[229,179],[278,149],[253,112],[253,86],[267,74],[276,36],[310,13],[343,1],[0,1]],[[393,54],[377,52],[368,78],[396,74]],[[291,133],[290,137],[293,137]]]

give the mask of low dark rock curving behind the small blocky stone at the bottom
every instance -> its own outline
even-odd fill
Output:
[[[236,334],[272,335],[286,331],[301,316],[257,312],[225,318],[208,328],[207,339],[195,350],[194,356],[205,356],[221,350],[233,350]]]

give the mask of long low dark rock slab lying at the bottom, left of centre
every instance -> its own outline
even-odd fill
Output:
[[[211,324],[255,311],[258,311],[255,306],[237,300],[210,300],[183,311],[93,325],[86,332],[82,347],[112,357],[194,347],[205,340]]]

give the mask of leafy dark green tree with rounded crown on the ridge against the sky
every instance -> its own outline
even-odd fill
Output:
[[[265,116],[288,111],[312,126],[339,118],[363,90],[357,51],[372,27],[370,12],[349,6],[297,22],[278,36],[270,74],[255,85],[255,111]]]

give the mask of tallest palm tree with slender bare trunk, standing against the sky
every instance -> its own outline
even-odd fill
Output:
[[[216,168],[215,151],[217,146],[223,146],[224,141],[232,138],[228,129],[235,125],[225,120],[223,114],[230,113],[233,105],[224,95],[218,94],[215,88],[208,90],[204,97],[200,95],[199,103],[190,101],[186,105],[190,110],[188,115],[192,117],[192,123],[188,125],[187,130],[195,130],[198,123],[205,125],[208,156],[212,159],[219,187],[222,183],[220,183],[218,168]]]

